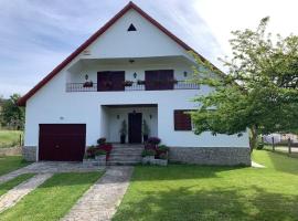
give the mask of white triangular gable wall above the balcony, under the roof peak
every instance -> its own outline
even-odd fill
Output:
[[[127,31],[130,23],[137,31]],[[124,14],[87,51],[91,55],[84,57],[189,56],[184,49],[135,10]]]

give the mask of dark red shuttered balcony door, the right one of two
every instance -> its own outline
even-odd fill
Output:
[[[146,90],[173,90],[173,70],[155,70],[145,72]]]

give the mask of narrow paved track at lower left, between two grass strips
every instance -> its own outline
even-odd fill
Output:
[[[42,173],[32,177],[31,179],[18,185],[13,189],[9,190],[6,194],[0,197],[0,213],[4,210],[13,207],[24,196],[34,190],[45,180],[52,177],[52,173]]]

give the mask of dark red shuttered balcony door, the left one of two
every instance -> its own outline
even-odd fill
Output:
[[[107,71],[97,72],[97,91],[125,91],[125,72],[124,71]]]

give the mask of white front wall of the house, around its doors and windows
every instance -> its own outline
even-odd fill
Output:
[[[127,32],[130,23],[136,32]],[[131,59],[134,63],[129,62]],[[39,146],[40,124],[86,124],[87,146],[99,137],[119,141],[121,120],[136,110],[142,113],[149,124],[150,136],[158,136],[164,145],[247,148],[247,134],[242,137],[210,133],[196,136],[191,130],[174,130],[174,109],[195,108],[198,104],[191,99],[209,93],[205,86],[200,90],[66,92],[67,83],[82,83],[86,74],[96,83],[99,71],[125,71],[126,80],[137,81],[145,78],[145,71],[173,70],[174,77],[183,81],[191,77],[192,64],[182,46],[131,9],[26,101],[25,146]]]

